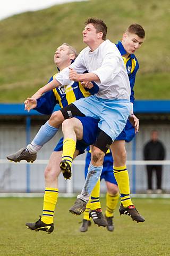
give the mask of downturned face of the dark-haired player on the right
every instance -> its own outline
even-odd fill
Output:
[[[134,54],[135,51],[140,48],[144,41],[145,38],[141,38],[138,35],[132,33],[124,33],[122,44],[127,53]]]

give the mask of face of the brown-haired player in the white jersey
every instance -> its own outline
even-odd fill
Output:
[[[89,23],[82,31],[82,34],[83,42],[89,44],[97,41],[99,33],[96,33],[96,28],[94,27],[94,25],[92,25],[92,23]]]

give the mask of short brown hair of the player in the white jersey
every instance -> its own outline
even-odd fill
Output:
[[[96,32],[102,32],[103,33],[103,40],[106,40],[106,34],[107,34],[107,26],[105,24],[105,22],[103,20],[97,19],[97,18],[88,18],[85,21],[85,25],[88,25],[92,23],[92,25],[94,25],[94,27],[96,28]]]

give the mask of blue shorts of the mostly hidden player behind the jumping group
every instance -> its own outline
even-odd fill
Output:
[[[86,164],[85,164],[85,178],[88,173],[89,164],[91,161],[91,154],[88,152],[86,155]],[[112,153],[108,153],[104,157],[103,170],[101,172],[100,180],[104,179],[105,181],[111,182],[117,185],[116,179],[113,174],[113,157]]]

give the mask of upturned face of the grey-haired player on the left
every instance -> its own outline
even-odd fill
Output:
[[[69,46],[67,46],[67,45],[59,46],[54,54],[55,65],[67,62],[69,60],[70,60]]]

